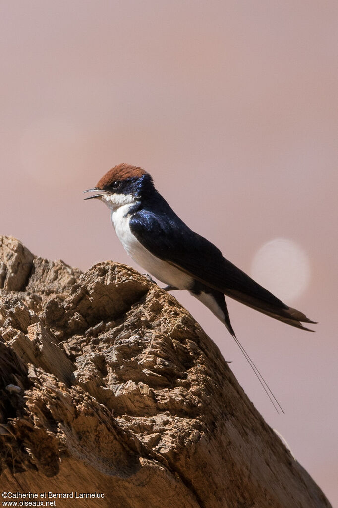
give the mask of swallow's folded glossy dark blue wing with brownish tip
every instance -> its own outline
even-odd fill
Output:
[[[223,258],[221,251],[188,228],[160,195],[151,206],[134,213],[129,226],[133,235],[154,256],[189,273],[208,287],[293,326],[302,328],[298,321],[313,323],[305,314],[285,305]]]

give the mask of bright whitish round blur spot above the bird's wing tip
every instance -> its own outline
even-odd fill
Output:
[[[276,238],[262,245],[251,265],[252,277],[280,300],[290,303],[307,289],[309,258],[292,240]]]

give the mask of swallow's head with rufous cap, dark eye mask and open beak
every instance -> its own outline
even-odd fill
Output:
[[[98,198],[110,209],[140,201],[154,189],[152,177],[142,168],[119,164],[109,169],[96,186],[84,192],[95,192],[85,199]]]

